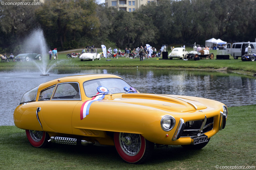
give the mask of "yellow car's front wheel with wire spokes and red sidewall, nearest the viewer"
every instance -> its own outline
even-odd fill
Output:
[[[129,163],[145,162],[151,157],[154,150],[154,143],[140,134],[115,132],[114,142],[118,154]]]

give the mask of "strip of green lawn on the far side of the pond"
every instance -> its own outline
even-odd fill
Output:
[[[98,53],[101,50],[98,50]],[[81,51],[79,51],[81,52]],[[56,60],[51,61],[51,64],[55,64],[55,67],[78,67],[78,68],[88,68],[88,67],[101,67],[101,68],[133,68],[133,67],[151,67],[151,68],[190,68],[190,69],[219,69],[222,67],[227,67],[229,71],[237,71],[237,72],[250,72],[249,74],[256,73],[256,62],[246,62],[241,61],[239,58],[235,60],[230,56],[230,60],[215,60],[216,59],[216,50],[210,50],[210,53],[214,53],[215,58],[213,60],[201,59],[199,61],[188,60],[183,61],[180,59],[173,60],[159,60],[159,58],[147,59],[141,62],[138,58],[136,59],[128,59],[125,57],[120,57],[118,59],[114,58],[111,61],[106,61],[105,58],[101,58],[101,60],[94,61],[80,61],[78,58],[68,59],[66,57],[66,53],[59,53],[58,58],[62,62],[58,62]],[[48,56],[47,56],[48,58]],[[109,58],[108,58],[109,59]],[[36,61],[40,63],[41,61]],[[15,66],[18,67],[35,67],[33,62],[4,62],[0,63],[0,69],[4,68],[13,68]]]

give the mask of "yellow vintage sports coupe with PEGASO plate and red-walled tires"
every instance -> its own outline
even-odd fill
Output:
[[[23,95],[13,118],[34,147],[112,145],[126,162],[143,163],[154,145],[203,148],[227,116],[215,100],[143,94],[119,76],[94,74],[40,84]]]

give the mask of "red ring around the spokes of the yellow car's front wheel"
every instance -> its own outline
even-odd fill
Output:
[[[118,152],[118,154],[125,160],[126,162],[129,163],[135,163],[138,162],[144,155],[145,149],[146,149],[146,141],[145,138],[140,135],[141,138],[141,148],[138,151],[138,153],[134,156],[127,155],[121,148],[120,142],[119,142],[119,132],[115,132],[114,134],[114,142],[115,142],[115,148]]]

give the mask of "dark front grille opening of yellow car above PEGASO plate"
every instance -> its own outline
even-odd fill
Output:
[[[200,128],[202,127],[204,120],[195,120],[185,122],[185,128],[180,137],[188,137],[188,136],[197,136],[200,133]],[[214,117],[210,117],[206,119],[206,123],[201,134],[209,132],[213,129]]]

